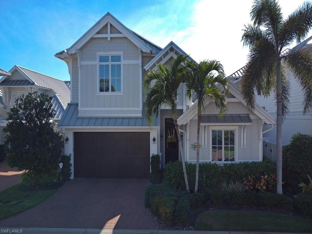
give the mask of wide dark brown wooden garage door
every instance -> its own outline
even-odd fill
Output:
[[[149,132],[75,132],[74,177],[149,178]]]

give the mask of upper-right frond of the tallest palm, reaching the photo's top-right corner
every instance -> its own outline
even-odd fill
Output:
[[[291,13],[281,25],[279,32],[281,48],[289,46],[292,41],[303,41],[312,28],[312,3],[304,2]]]

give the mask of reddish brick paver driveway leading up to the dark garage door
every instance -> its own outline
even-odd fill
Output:
[[[144,207],[148,183],[75,178],[36,207],[0,221],[0,227],[158,229]]]

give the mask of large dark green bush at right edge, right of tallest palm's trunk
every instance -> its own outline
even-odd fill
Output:
[[[312,136],[294,134],[290,144],[283,147],[283,187],[290,192],[300,192],[298,184],[309,183],[308,174],[312,175]]]

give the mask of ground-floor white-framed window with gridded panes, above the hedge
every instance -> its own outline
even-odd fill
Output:
[[[211,137],[212,162],[234,162],[235,130],[212,130]]]

